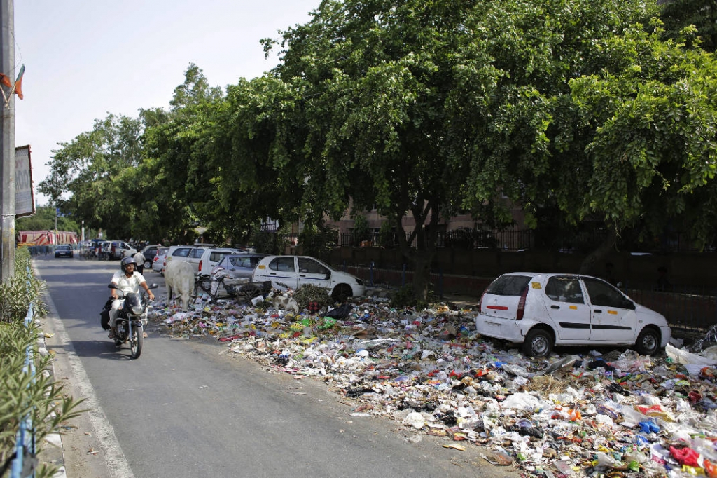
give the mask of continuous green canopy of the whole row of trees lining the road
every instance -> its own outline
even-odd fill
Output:
[[[597,221],[603,250],[628,229],[706,243],[713,18],[690,0],[324,0],[262,40],[281,50],[275,69],[223,92],[191,64],[168,111],[110,114],[60,145],[41,190],[70,192],[92,227],[158,240],[377,205],[419,295],[458,211],[499,226],[515,206],[533,228],[542,210]]]

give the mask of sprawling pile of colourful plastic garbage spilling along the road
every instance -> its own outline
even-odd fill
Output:
[[[272,370],[315,376],[446,448],[481,446],[523,476],[717,478],[717,347],[659,357],[595,350],[529,360],[475,332],[475,313],[369,297],[298,313],[199,298],[156,309],[170,334],[211,335]],[[161,305],[161,304],[158,304]]]

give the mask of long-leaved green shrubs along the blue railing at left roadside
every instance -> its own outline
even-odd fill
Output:
[[[34,317],[47,315],[47,306],[40,301],[42,281],[27,273],[29,254],[21,248],[16,253],[15,274],[0,285],[0,469],[14,458],[16,435],[24,417],[32,420],[35,441],[42,444],[47,434],[60,431],[60,423],[82,413],[77,410],[81,400],[65,396],[49,370],[52,356],[40,356],[37,340],[42,334],[32,322],[25,324],[32,301]],[[25,370],[27,348],[32,350],[35,372]],[[52,477],[57,466],[42,464],[36,469],[38,478]],[[9,476],[9,470],[2,477]]]

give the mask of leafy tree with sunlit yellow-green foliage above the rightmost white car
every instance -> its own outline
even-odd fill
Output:
[[[609,233],[583,272],[622,230],[654,233],[684,220],[695,192],[712,197],[713,57],[661,41],[646,14],[635,1],[486,2],[457,52],[456,139],[474,138],[467,207],[499,191],[532,225],[538,205],[602,220]]]

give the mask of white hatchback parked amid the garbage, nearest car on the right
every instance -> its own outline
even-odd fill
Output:
[[[627,345],[651,355],[670,340],[662,314],[632,301],[597,277],[507,273],[490,283],[475,318],[485,337],[523,344],[546,357],[554,345]]]

